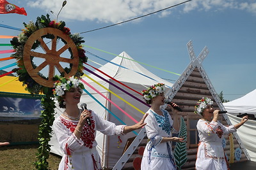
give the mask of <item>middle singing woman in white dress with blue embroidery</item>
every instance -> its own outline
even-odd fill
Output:
[[[168,105],[168,108],[172,109],[172,120],[168,111],[160,109],[160,106],[164,104],[163,83],[152,85],[147,90],[143,90],[142,94],[151,107],[147,111],[148,117],[145,120],[147,123],[145,128],[150,141],[143,153],[141,170],[176,169],[171,141],[184,142],[182,138],[172,137],[172,132],[177,133],[176,130],[179,130],[177,110]],[[177,104],[173,104],[173,106],[177,106]]]

